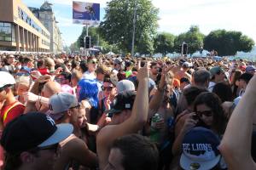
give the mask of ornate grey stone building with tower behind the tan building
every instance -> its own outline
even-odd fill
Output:
[[[50,33],[50,52],[54,54],[59,54],[63,50],[61,31],[57,26],[58,22],[55,20],[55,14],[51,6],[51,3],[45,1],[40,8],[30,9]]]

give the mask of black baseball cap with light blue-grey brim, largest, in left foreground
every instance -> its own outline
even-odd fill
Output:
[[[73,133],[73,125],[55,125],[54,120],[44,113],[30,112],[9,122],[3,129],[1,144],[7,152],[18,154],[58,144]]]

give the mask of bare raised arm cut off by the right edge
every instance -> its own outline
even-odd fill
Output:
[[[256,76],[247,85],[239,104],[230,117],[219,150],[229,169],[256,169],[251,156],[253,113],[256,109]]]

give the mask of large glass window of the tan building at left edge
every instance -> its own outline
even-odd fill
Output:
[[[0,22],[0,41],[12,41],[12,24]]]

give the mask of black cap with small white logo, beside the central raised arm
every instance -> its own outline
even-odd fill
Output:
[[[108,111],[108,114],[113,115],[124,110],[132,110],[135,97],[135,91],[125,91],[119,93],[115,99],[113,99],[113,108]]]

